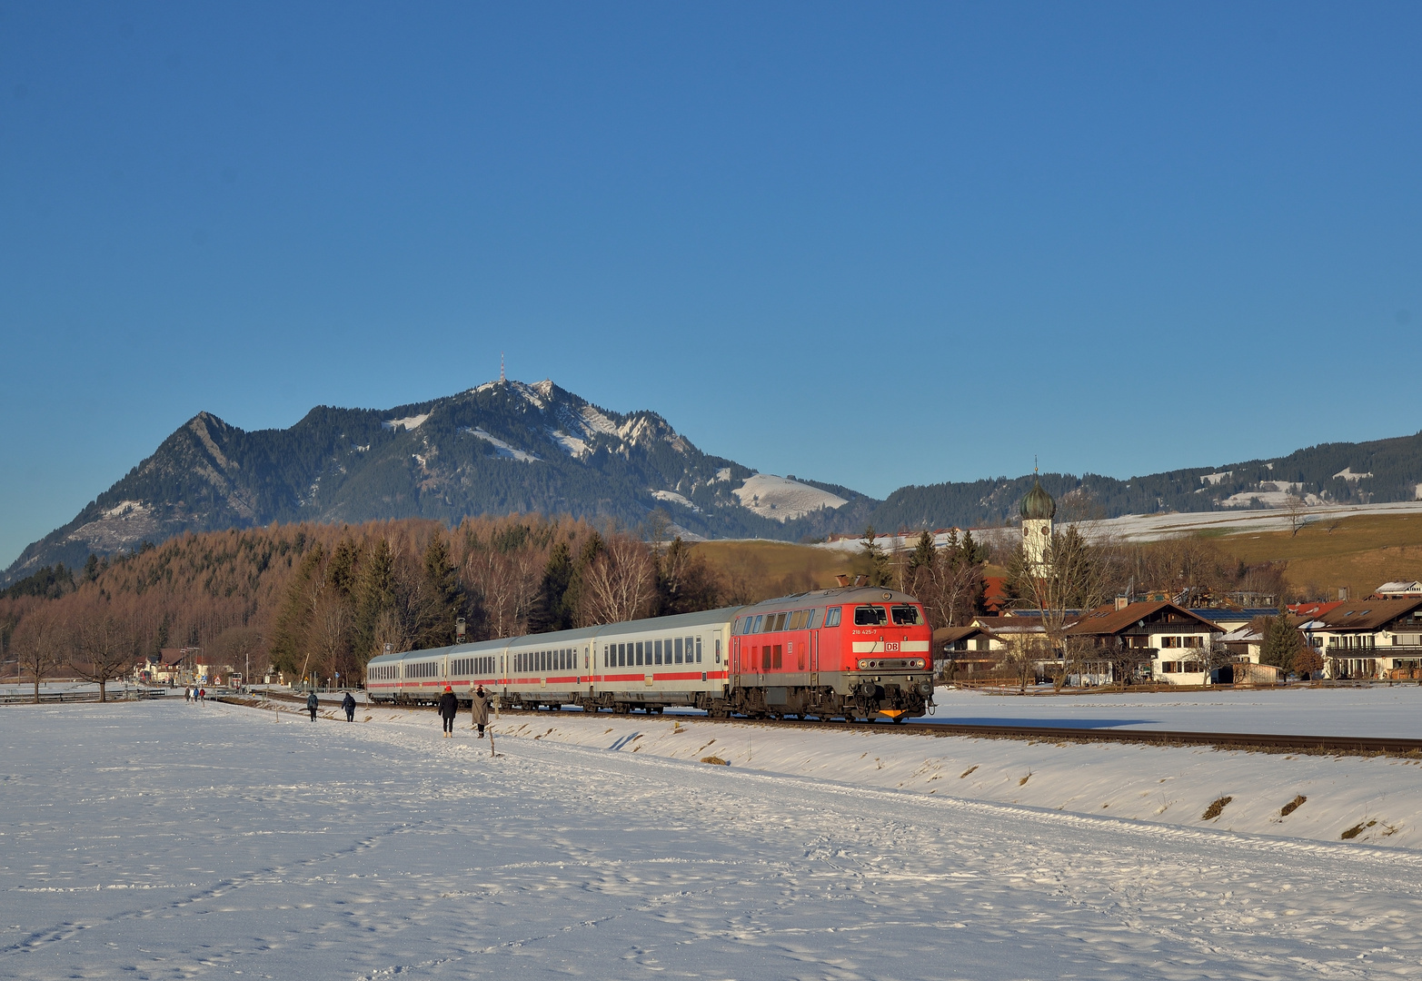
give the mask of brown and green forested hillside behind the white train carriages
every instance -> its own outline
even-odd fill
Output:
[[[0,651],[51,667],[92,660],[102,640],[127,665],[164,647],[286,677],[358,677],[384,644],[471,640],[714,609],[785,583],[722,574],[674,540],[651,547],[576,519],[405,519],[183,535],[46,567],[0,594]],[[102,637],[100,637],[102,634]]]

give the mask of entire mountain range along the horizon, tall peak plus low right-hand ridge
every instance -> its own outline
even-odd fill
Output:
[[[752,481],[754,478],[754,481]],[[365,522],[569,513],[643,525],[661,509],[688,537],[816,539],[1011,523],[1035,481],[1068,512],[1369,503],[1422,496],[1422,432],[1331,442],[1287,456],[1163,471],[903,486],[876,500],[838,483],[778,478],[702,452],[650,409],[614,412],[550,380],[499,380],[454,395],[361,409],[317,405],[284,429],[240,429],[202,411],[0,574],[84,563],[185,532],[272,522]],[[754,492],[754,493],[752,493]]]

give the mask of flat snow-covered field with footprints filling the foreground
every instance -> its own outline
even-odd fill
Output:
[[[284,718],[0,711],[0,975],[1422,975],[1415,852]]]

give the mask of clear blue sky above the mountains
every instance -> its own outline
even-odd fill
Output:
[[[498,375],[883,496],[1419,428],[1418,4],[0,3],[0,564]]]

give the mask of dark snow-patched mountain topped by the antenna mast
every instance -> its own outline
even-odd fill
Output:
[[[825,516],[803,509],[776,520],[742,506],[734,490],[754,475],[701,452],[657,412],[603,409],[549,380],[501,380],[384,411],[319,405],[284,429],[249,432],[203,411],[26,547],[3,579],[185,532],[294,520],[543,512],[637,526],[661,508],[688,536],[823,529]],[[863,510],[869,499],[843,490],[845,506]]]

